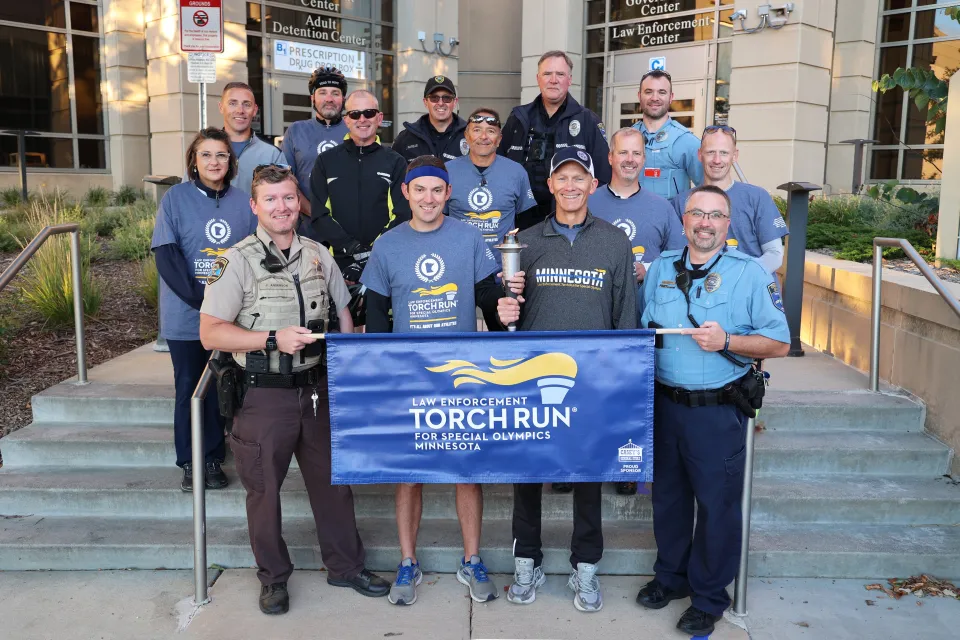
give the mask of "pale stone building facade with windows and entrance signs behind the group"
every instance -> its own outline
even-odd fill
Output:
[[[222,0],[224,52],[207,85],[207,122],[230,81],[255,90],[261,135],[310,117],[318,64],[375,92],[381,138],[423,111],[424,82],[453,79],[460,112],[506,117],[537,93],[549,49],[574,60],[572,95],[609,132],[639,117],[641,76],[664,68],[675,118],[699,134],[737,129],[740,165],[770,190],[788,181],[849,191],[854,146],[875,140],[865,178],[931,185],[943,134],[902,91],[871,82],[898,66],[949,77],[960,67],[960,0]],[[27,130],[31,188],[83,192],[182,175],[200,85],[180,51],[179,0],[0,3],[0,187],[19,182]],[[767,14],[767,15],[763,15]]]

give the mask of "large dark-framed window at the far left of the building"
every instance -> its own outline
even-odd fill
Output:
[[[107,168],[100,8],[94,0],[2,2],[0,168]]]

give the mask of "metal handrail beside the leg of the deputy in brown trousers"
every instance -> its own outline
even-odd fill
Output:
[[[219,351],[210,354],[214,360],[220,356]],[[193,580],[194,604],[207,604],[210,598],[207,595],[207,487],[204,482],[204,448],[203,448],[203,402],[210,392],[213,382],[213,369],[209,364],[203,368],[200,382],[190,396],[190,447],[191,464],[193,465]]]

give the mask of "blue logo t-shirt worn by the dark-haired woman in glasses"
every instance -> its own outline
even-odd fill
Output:
[[[214,261],[257,228],[250,196],[230,187],[219,200],[208,198],[192,182],[174,185],[157,208],[151,249],[174,244],[183,253],[190,275],[206,283]],[[160,278],[160,336],[199,340],[200,312]]]

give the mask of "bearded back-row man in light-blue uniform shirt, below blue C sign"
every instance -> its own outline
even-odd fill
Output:
[[[703,167],[697,157],[700,139],[670,117],[673,82],[666,71],[648,71],[637,93],[643,118],[633,125],[643,134],[647,159],[640,186],[670,199],[703,182]]]

